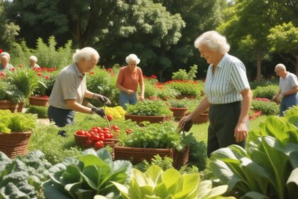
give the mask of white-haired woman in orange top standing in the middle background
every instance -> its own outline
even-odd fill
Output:
[[[138,102],[137,91],[140,85],[140,100],[144,99],[145,85],[143,72],[137,66],[140,59],[135,54],[126,57],[128,65],[120,69],[116,82],[116,87],[120,90],[119,104],[126,109],[125,104],[136,104]]]

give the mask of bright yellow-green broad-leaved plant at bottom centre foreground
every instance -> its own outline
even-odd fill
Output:
[[[113,182],[123,198],[223,198],[226,185],[211,188],[211,181],[200,182],[199,174],[181,175],[175,168],[162,171],[150,166],[145,173],[133,169],[127,185]]]

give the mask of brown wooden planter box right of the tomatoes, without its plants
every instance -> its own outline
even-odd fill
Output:
[[[130,160],[133,164],[140,163],[143,160],[148,162],[155,155],[160,157],[168,156],[173,158],[173,166],[179,169],[189,161],[189,147],[184,151],[177,151],[175,149],[151,149],[151,148],[135,148],[126,146],[115,146],[114,154],[116,160]]]

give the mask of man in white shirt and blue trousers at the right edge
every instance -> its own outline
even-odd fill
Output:
[[[298,80],[281,63],[275,66],[275,74],[280,77],[280,91],[273,97],[273,101],[280,102],[280,116],[284,116],[289,107],[298,105]]]

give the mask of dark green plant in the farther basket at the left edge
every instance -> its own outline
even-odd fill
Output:
[[[16,85],[11,85],[9,82],[0,80],[0,100],[4,99],[13,102],[25,102],[23,92]]]

